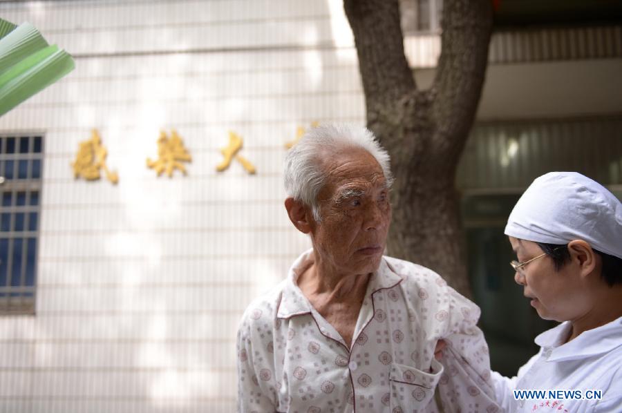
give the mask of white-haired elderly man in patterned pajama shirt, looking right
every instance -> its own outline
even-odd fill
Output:
[[[498,410],[478,307],[382,255],[391,180],[366,128],[314,128],[288,153],[285,209],[312,249],[243,316],[239,412]]]

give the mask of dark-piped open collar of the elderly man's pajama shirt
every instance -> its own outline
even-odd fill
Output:
[[[281,302],[279,303],[279,310],[276,312],[278,318],[290,318],[311,312],[311,303],[299,289],[296,280],[312,263],[313,249],[309,249],[303,252],[290,267],[288,278],[285,280]],[[382,257],[380,266],[370,277],[367,295],[371,296],[379,289],[395,287],[399,282],[402,282],[402,279],[403,277],[395,272],[386,258]]]

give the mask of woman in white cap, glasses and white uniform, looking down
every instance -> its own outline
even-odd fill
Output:
[[[622,412],[621,202],[579,173],[547,173],[518,200],[505,234],[525,297],[561,324],[536,337],[540,352],[518,376],[493,372],[498,403],[507,412]]]

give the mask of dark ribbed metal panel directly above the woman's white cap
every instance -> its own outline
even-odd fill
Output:
[[[522,192],[550,171],[622,184],[622,117],[475,125],[458,166],[464,191]]]

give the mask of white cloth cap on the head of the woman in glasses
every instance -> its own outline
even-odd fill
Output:
[[[547,173],[516,202],[505,235],[545,244],[584,240],[622,258],[622,203],[581,173]]]

